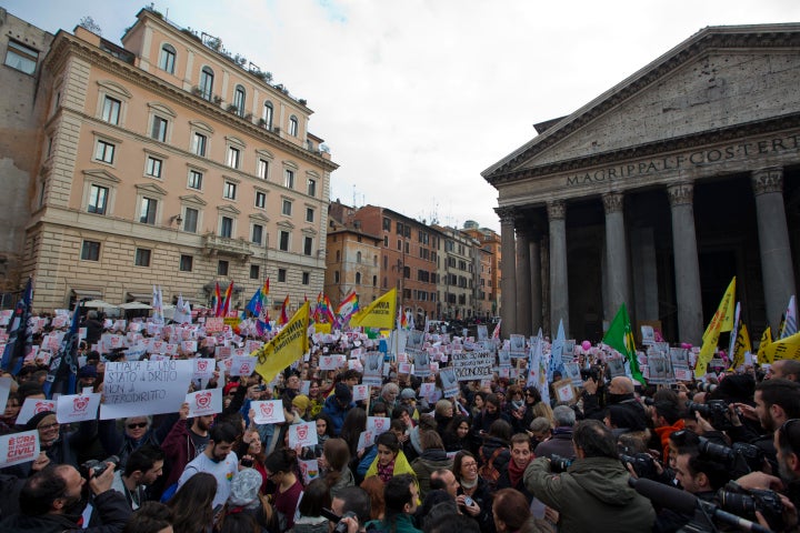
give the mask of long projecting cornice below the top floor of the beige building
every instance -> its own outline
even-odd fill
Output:
[[[202,112],[206,117],[217,122],[223,122],[231,128],[253,138],[267,138],[271,145],[278,145],[284,151],[304,161],[312,161],[323,171],[332,172],[339,168],[333,161],[327,160],[321,155],[311,153],[284,139],[274,132],[267,131],[254,123],[246,121],[243,118],[226,111],[220,105],[209,102],[176,86],[164,82],[160,78],[150,74],[132,64],[126,63],[113,56],[91,46],[90,43],[78,39],[77,37],[59,32],[53,42],[53,47],[46,59],[47,69],[58,72],[70,54],[79,57],[92,66],[100,67],[109,72],[134,83],[139,87],[153,91],[157,94],[168,97],[173,102],[182,103],[192,108],[198,112]]]

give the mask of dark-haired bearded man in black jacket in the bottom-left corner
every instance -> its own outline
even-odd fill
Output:
[[[20,493],[20,514],[0,523],[3,533],[60,533],[84,531],[87,533],[118,533],[131,515],[131,509],[122,494],[111,489],[114,465],[108,463],[106,471],[89,479],[93,494],[93,512],[101,525],[83,529],[81,513],[86,480],[69,464],[44,469],[30,476]]]

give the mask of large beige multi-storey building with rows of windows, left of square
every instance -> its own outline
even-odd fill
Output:
[[[143,9],[116,46],[60,31],[41,59],[41,161],[23,274],[34,306],[76,298],[243,305],[270,278],[292,306],[322,290],[330,174],[312,111],[256,68]]]

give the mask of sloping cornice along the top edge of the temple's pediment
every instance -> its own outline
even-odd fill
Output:
[[[528,147],[521,148],[506,160],[490,167],[481,175],[492,185],[506,181],[506,177],[516,174],[513,168],[531,159],[537,153],[543,152],[659,79],[668,76],[690,58],[711,50],[798,48],[800,48],[800,27],[797,24],[706,28],[548,129],[546,133],[536,138]]]

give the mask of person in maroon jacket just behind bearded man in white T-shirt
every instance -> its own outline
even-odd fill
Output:
[[[167,439],[161,444],[164,459],[169,465],[169,473],[164,486],[171,486],[178,482],[183,469],[206,450],[209,442],[209,429],[213,422],[213,415],[196,416],[188,424],[189,404],[183,403],[180,409],[180,418],[176,421]]]

